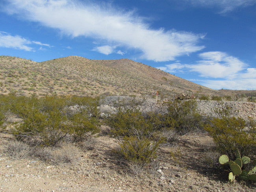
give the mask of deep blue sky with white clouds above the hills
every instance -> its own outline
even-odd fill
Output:
[[[0,55],[128,58],[256,90],[256,0],[0,0]]]

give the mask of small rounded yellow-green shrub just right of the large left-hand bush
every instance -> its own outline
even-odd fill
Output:
[[[91,116],[89,111],[82,111],[70,117],[72,136],[75,141],[81,141],[100,131],[100,121],[97,117]]]

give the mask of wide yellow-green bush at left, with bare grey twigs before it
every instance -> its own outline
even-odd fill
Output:
[[[71,132],[67,117],[58,109],[52,109],[48,113],[40,112],[37,108],[26,110],[30,111],[26,118],[13,129],[17,138],[52,146]]]

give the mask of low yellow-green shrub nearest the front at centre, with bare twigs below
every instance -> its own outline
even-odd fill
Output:
[[[159,144],[160,141],[152,142],[148,138],[124,137],[119,142],[118,153],[126,160],[132,172],[137,173],[156,158]]]

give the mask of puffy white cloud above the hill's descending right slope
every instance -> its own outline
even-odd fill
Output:
[[[256,68],[224,52],[205,52],[198,55],[196,64],[174,63],[161,66],[166,72],[196,72],[206,79],[202,85],[212,89],[256,89]]]

